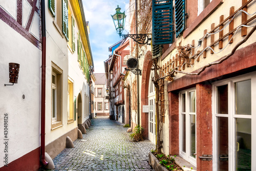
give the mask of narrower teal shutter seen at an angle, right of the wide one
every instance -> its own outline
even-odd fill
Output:
[[[185,29],[185,0],[175,0],[176,37]]]

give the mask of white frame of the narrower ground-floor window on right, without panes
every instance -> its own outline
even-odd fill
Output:
[[[195,113],[189,112],[189,93],[190,92],[195,92]],[[185,112],[181,112],[182,110],[182,94],[185,94]],[[197,155],[196,158],[193,158],[190,156],[190,115],[195,115],[195,128],[197,127],[197,92],[196,88],[191,88],[188,90],[183,90],[179,92],[179,153],[180,156],[193,164],[194,166],[197,166]],[[182,151],[182,114],[185,114],[185,120],[186,120],[186,125],[185,125],[185,132],[186,132],[186,152],[184,153]],[[197,153],[197,129],[195,129],[195,152]]]

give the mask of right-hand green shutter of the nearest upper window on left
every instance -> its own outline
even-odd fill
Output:
[[[62,0],[62,32],[69,41],[69,4],[68,0]]]

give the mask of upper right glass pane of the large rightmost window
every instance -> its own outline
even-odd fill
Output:
[[[236,82],[236,114],[251,115],[251,80]]]

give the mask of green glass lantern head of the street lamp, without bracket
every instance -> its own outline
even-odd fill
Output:
[[[119,8],[119,6],[117,6],[116,8],[116,13],[112,16],[117,34],[119,34],[121,36],[122,31],[124,30],[124,24],[125,24],[125,12],[120,12],[121,8]]]

